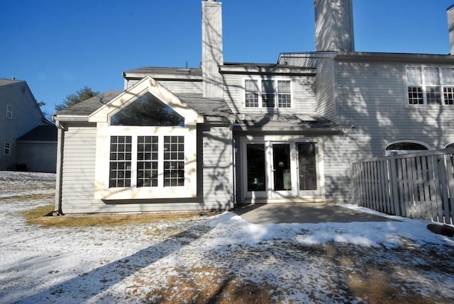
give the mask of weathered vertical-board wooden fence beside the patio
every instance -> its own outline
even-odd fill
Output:
[[[352,163],[353,203],[407,218],[453,225],[454,148]]]

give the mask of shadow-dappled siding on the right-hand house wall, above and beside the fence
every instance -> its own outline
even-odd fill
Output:
[[[327,201],[348,201],[350,162],[382,156],[389,142],[418,140],[439,149],[454,140],[454,108],[409,106],[405,75],[399,62],[336,62],[336,121],[345,128],[324,140]]]

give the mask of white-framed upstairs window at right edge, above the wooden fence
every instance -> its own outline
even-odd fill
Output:
[[[406,67],[411,105],[454,105],[454,68]]]

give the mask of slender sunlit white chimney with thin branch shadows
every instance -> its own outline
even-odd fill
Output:
[[[222,3],[214,0],[201,3],[201,71],[204,97],[223,97],[223,81],[219,66],[223,64]]]

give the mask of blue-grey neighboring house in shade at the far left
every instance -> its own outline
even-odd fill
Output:
[[[0,111],[0,170],[55,172],[57,142],[55,136],[52,142],[48,136],[57,131],[55,125],[45,119],[26,81],[0,79]],[[25,137],[28,144],[18,142],[38,126],[47,128],[28,134]],[[48,133],[45,146],[43,131]],[[33,138],[33,135],[40,137]]]

